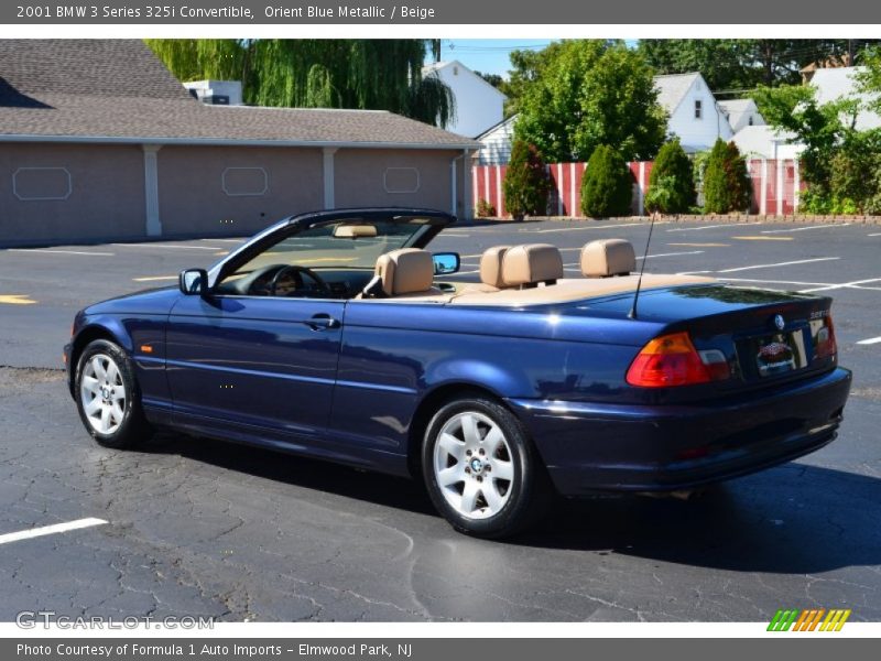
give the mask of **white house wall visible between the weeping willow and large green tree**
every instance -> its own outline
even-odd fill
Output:
[[[456,118],[446,130],[474,138],[504,119],[508,98],[457,59],[422,67],[422,75],[437,76],[453,90]]]

